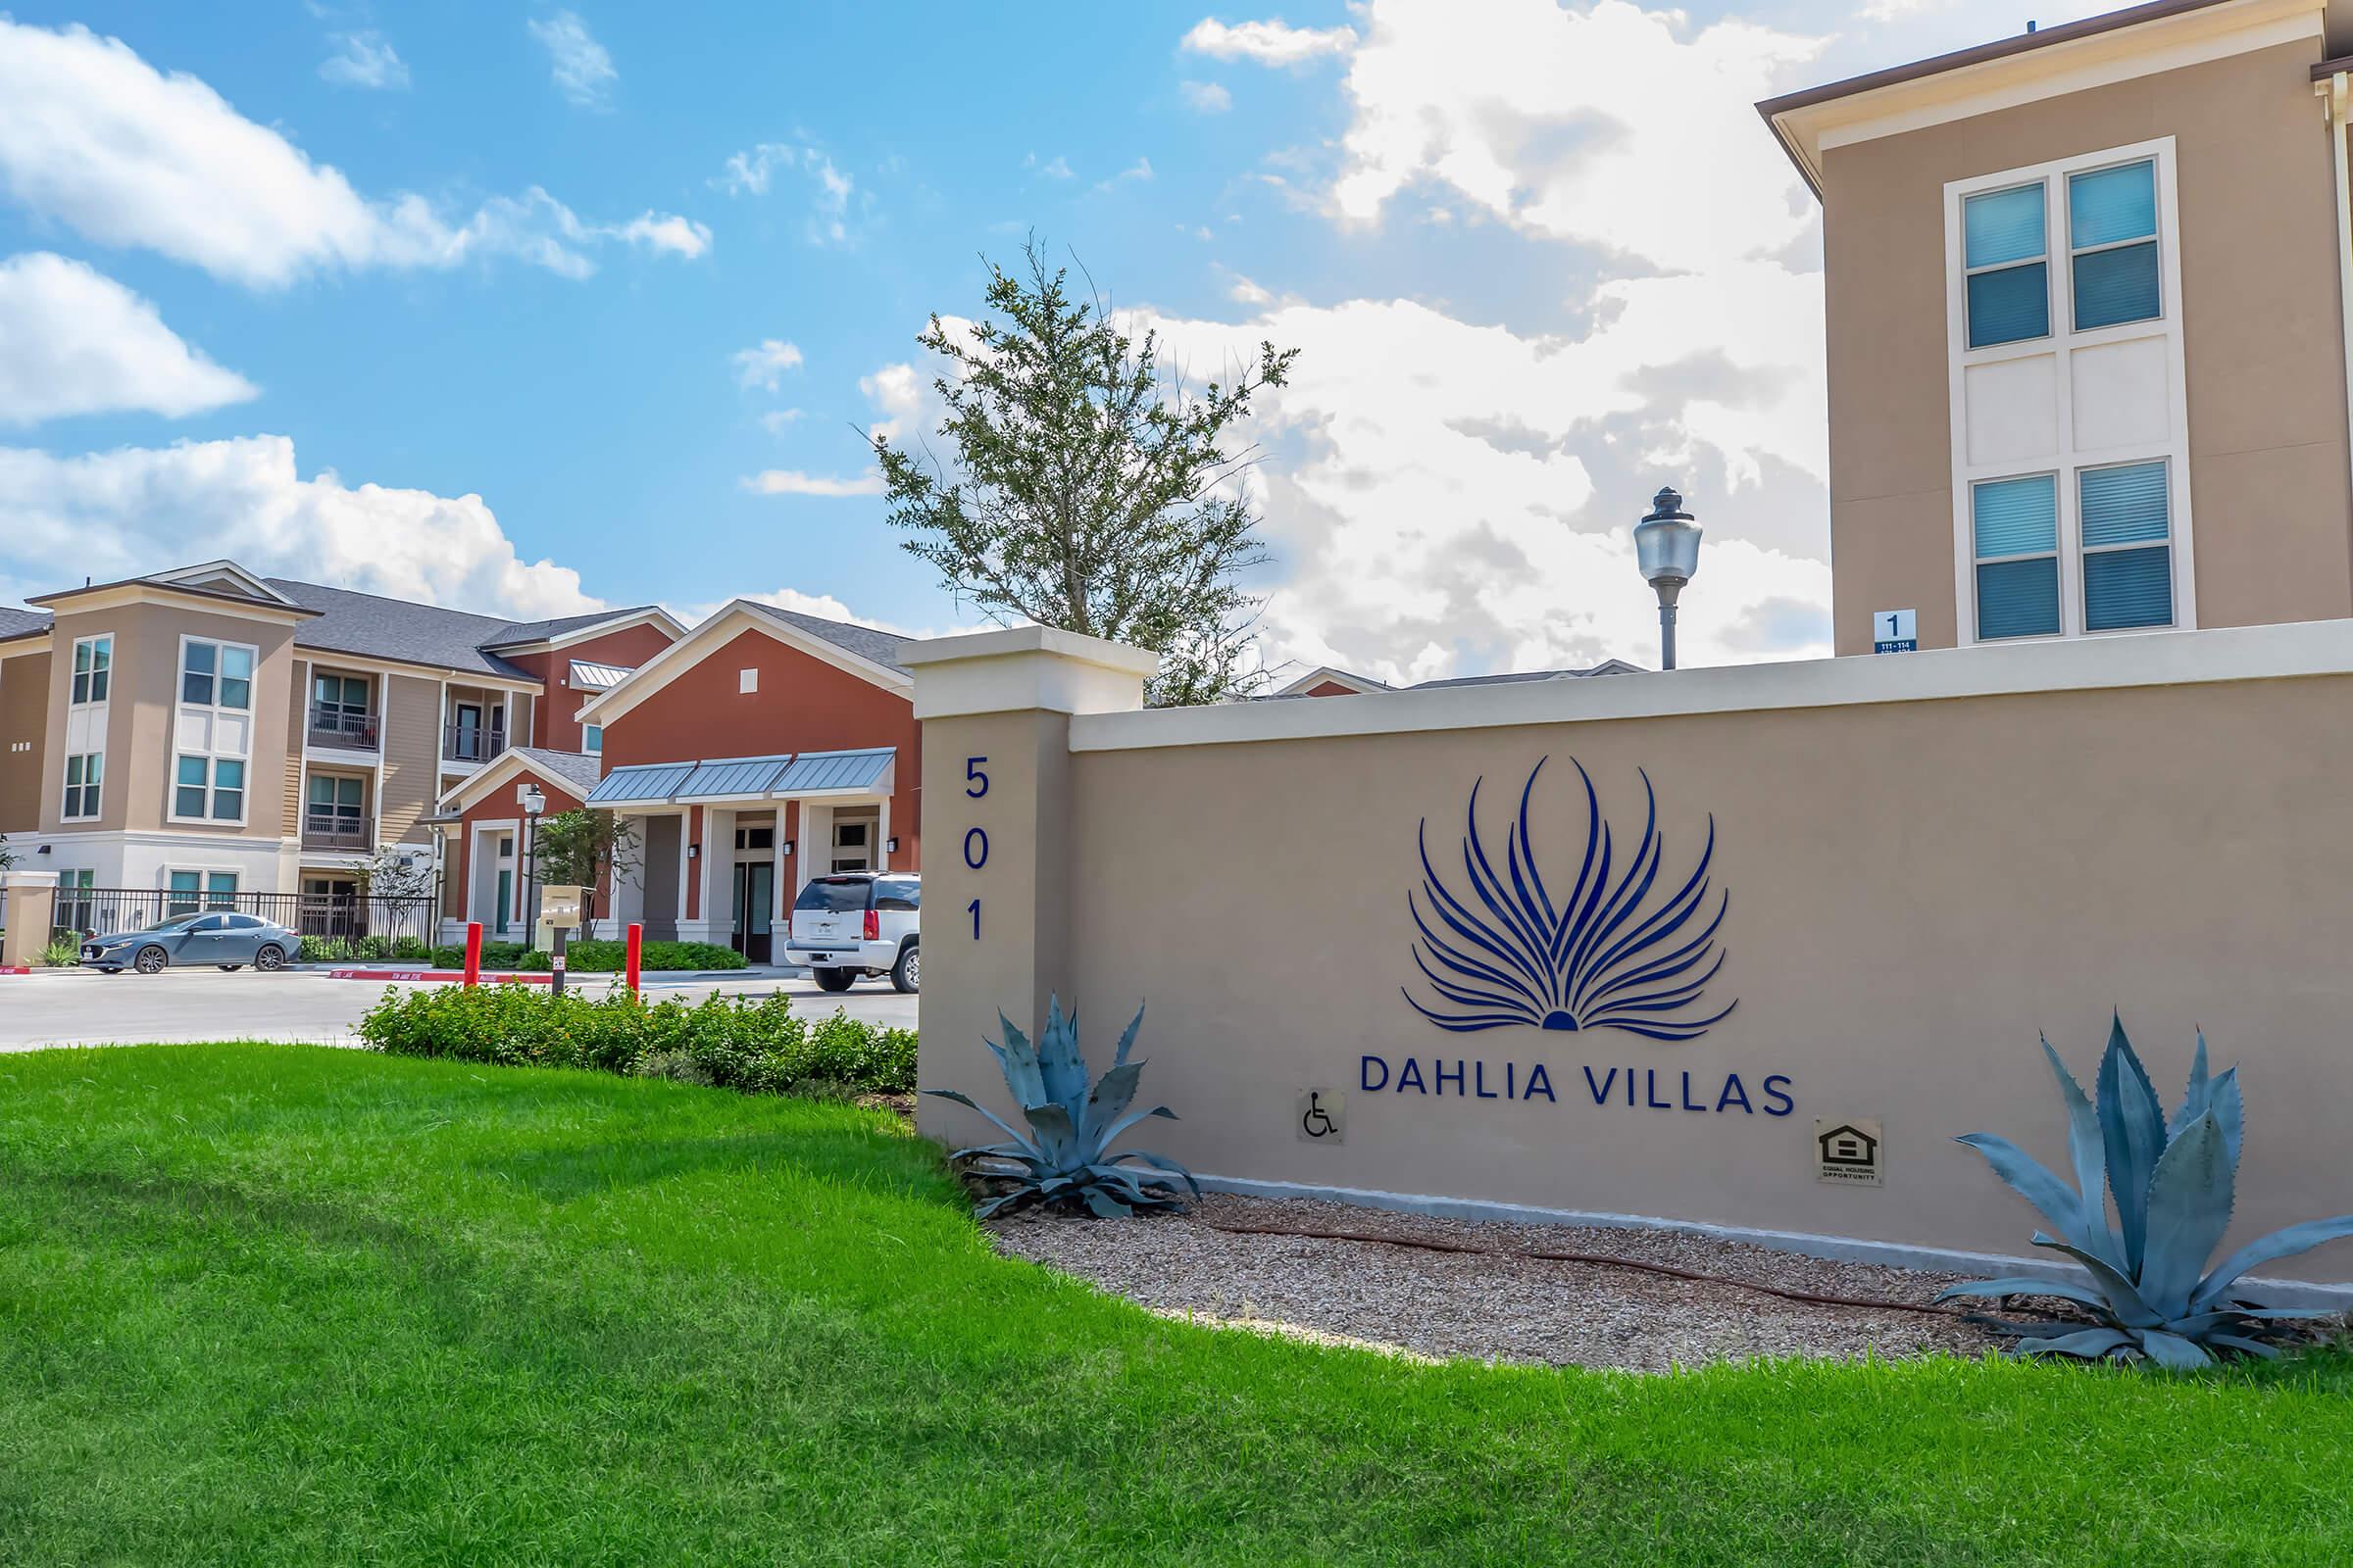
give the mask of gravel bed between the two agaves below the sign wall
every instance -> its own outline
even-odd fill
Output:
[[[1153,1312],[1431,1359],[1657,1373],[1746,1356],[1974,1356],[1995,1345],[1993,1335],[1960,1319],[1918,1312],[1821,1307],[1729,1284],[1584,1262],[1242,1237],[1217,1229],[1219,1222],[1600,1253],[1798,1291],[1911,1302],[1925,1302],[1960,1279],[1826,1262],[1671,1229],[1438,1220],[1318,1199],[1233,1194],[1209,1194],[1191,1213],[1136,1220],[1024,1213],[993,1229],[1005,1255],[1061,1269]]]

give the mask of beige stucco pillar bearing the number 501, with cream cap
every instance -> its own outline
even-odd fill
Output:
[[[1002,1110],[981,1044],[998,1037],[998,1013],[1035,1037],[1047,997],[1071,1001],[1071,717],[1141,708],[1160,661],[1040,625],[934,637],[901,658],[915,670],[932,846],[918,1077]],[[944,1100],[922,1100],[918,1126],[936,1138],[988,1133]]]

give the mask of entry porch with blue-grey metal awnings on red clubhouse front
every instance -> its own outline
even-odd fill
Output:
[[[607,773],[588,804],[638,835],[638,875],[614,914],[649,940],[781,954],[809,877],[892,870],[896,748],[649,762]]]

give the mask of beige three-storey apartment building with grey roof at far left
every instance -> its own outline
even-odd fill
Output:
[[[348,898],[431,860],[511,745],[600,748],[581,701],[680,637],[661,609],[515,623],[207,562],[0,609],[0,837],[75,893]]]

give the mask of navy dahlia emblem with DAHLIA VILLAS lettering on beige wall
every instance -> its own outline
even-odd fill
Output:
[[[1619,835],[1600,804],[1593,776],[1574,757],[1584,785],[1584,844],[1562,856],[1539,849],[1529,804],[1544,773],[1539,759],[1520,785],[1520,809],[1504,825],[1501,849],[1480,830],[1471,785],[1464,811],[1461,870],[1431,860],[1428,818],[1417,830],[1421,886],[1407,891],[1414,917],[1414,966],[1424,994],[1400,987],[1405,1001],[1449,1034],[1539,1030],[1591,1034],[1612,1030],[1647,1041],[1682,1044],[1732,1016],[1739,999],[1715,1006],[1708,994],[1725,966],[1718,931],[1732,905],[1708,867],[1715,860],[1715,816],[1689,872],[1668,867],[1659,832],[1659,795],[1642,771],[1642,830]],[[1449,858],[1452,860],[1452,858]],[[1569,863],[1577,872],[1569,877]],[[1546,875],[1551,870],[1551,875]],[[1795,1110],[1784,1072],[1682,1072],[1635,1065],[1584,1065],[1584,1088],[1595,1105],[1638,1110],[1748,1112],[1786,1117]],[[1699,1081],[1694,1081],[1694,1077]],[[1565,1079],[1574,1084],[1574,1077]],[[1558,1103],[1544,1060],[1471,1060],[1407,1056],[1391,1063],[1367,1053],[1358,1088],[1461,1098]]]

